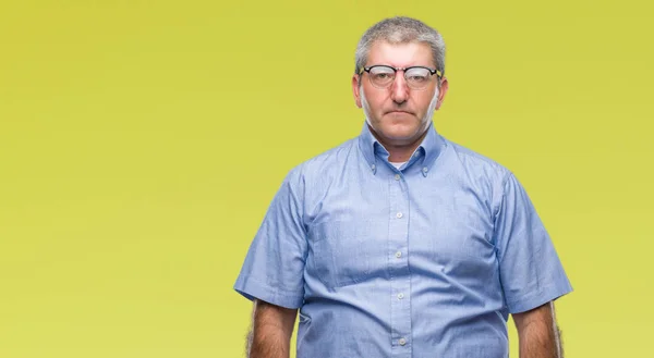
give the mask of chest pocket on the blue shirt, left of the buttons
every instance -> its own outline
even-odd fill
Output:
[[[380,269],[387,250],[388,222],[335,221],[310,232],[308,269],[327,287],[342,287],[370,279]]]

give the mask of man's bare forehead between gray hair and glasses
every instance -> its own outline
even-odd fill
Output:
[[[412,65],[433,66],[432,49],[427,44],[390,44],[375,41],[371,46],[366,65],[389,64],[396,67]]]

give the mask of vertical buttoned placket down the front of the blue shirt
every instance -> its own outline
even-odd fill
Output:
[[[404,175],[389,180],[389,262],[392,357],[411,357],[411,281],[409,276],[409,196]]]

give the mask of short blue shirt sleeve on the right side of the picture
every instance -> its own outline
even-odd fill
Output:
[[[510,313],[528,311],[572,292],[552,239],[513,174],[504,183],[495,235]]]

